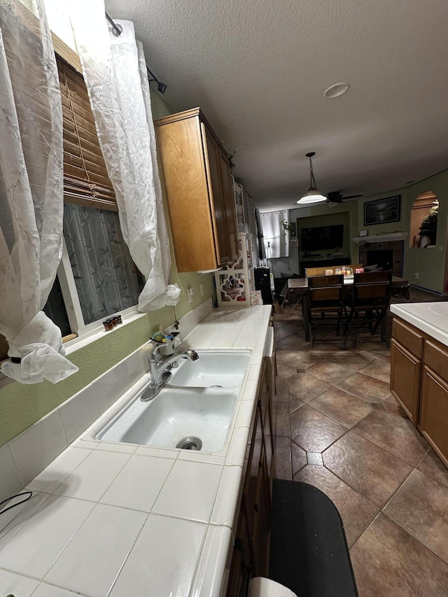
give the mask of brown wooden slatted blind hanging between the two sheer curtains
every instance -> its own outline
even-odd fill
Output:
[[[118,211],[83,76],[59,56],[57,69],[64,120],[64,201]]]

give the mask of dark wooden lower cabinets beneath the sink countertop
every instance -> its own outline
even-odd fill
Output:
[[[270,513],[274,443],[272,377],[263,367],[257,405],[249,433],[246,475],[232,556],[228,597],[246,595],[248,580],[269,574]]]

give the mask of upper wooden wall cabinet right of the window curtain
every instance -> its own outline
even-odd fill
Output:
[[[235,202],[221,142],[199,108],[154,124],[178,271],[235,261]]]

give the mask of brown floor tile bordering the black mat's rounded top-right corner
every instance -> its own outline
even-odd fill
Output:
[[[344,523],[349,547],[379,512],[377,507],[322,466],[302,468],[294,475],[294,481],[304,481],[314,485],[332,500]]]

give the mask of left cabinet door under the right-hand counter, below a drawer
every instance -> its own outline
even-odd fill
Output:
[[[392,339],[391,393],[416,425],[419,417],[421,361]]]

